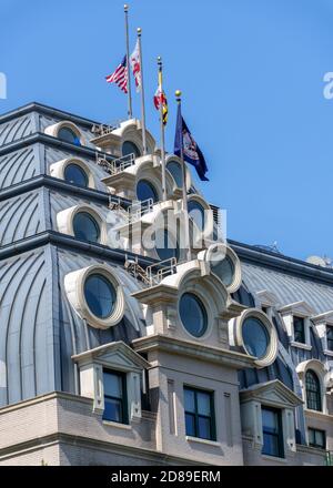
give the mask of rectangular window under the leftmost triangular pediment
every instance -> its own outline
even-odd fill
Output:
[[[103,420],[128,424],[127,380],[122,373],[103,370],[104,414]]]

